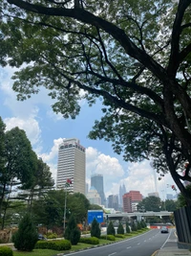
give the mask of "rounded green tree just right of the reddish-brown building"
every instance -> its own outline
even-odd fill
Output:
[[[161,200],[155,196],[143,198],[142,201],[138,202],[138,210],[143,208],[145,211],[159,212],[160,206]]]

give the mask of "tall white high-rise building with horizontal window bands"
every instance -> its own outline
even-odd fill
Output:
[[[79,144],[79,140],[64,139],[59,145],[56,187],[64,188],[67,179],[72,184],[67,188],[71,192],[85,195],[86,150]]]

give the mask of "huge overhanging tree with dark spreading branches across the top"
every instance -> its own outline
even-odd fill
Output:
[[[190,9],[187,0],[3,0],[0,61],[25,63],[13,77],[18,99],[43,85],[65,118],[98,98],[103,117],[89,136],[125,160],[152,157],[191,204],[181,182],[191,181]]]

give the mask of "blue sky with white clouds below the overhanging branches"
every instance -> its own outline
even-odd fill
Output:
[[[86,148],[86,182],[89,187],[91,175],[101,174],[106,197],[117,195],[120,184],[126,186],[127,192],[138,190],[143,197],[156,191],[162,200],[166,199],[166,194],[175,196],[171,188],[175,183],[171,176],[165,175],[159,180],[150,161],[125,162],[122,155],[113,151],[111,143],[88,138],[96,119],[102,115],[100,102],[89,107],[82,101],[80,114],[74,120],[64,119],[53,113],[53,100],[44,88],[31,99],[18,102],[16,93],[11,89],[14,71],[9,66],[0,67],[0,116],[8,130],[18,127],[26,131],[33,151],[50,166],[54,180],[59,144],[64,138],[77,138]]]

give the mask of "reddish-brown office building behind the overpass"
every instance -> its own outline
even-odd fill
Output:
[[[123,195],[123,211],[126,213],[137,212],[138,202],[142,200],[139,191],[130,191]]]

